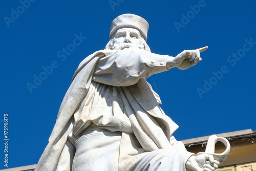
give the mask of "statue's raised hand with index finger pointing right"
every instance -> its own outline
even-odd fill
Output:
[[[206,49],[208,49],[207,46],[196,50],[185,50],[181,52],[176,57],[174,57],[174,66],[178,67],[180,70],[186,70],[195,66],[199,61],[202,60],[200,57],[200,52],[203,52]]]

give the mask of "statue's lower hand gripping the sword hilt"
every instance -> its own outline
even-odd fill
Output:
[[[215,160],[214,156],[203,153],[198,156],[191,156],[186,167],[194,171],[214,171],[219,164],[220,162]]]

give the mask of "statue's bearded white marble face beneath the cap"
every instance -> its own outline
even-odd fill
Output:
[[[130,47],[143,47],[143,37],[137,29],[121,28],[114,34],[113,45],[120,47],[120,50]]]

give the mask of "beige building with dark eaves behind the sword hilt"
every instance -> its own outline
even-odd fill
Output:
[[[217,134],[225,137],[230,143],[230,153],[216,170],[221,171],[256,171],[256,132],[251,129]],[[183,140],[187,150],[197,154],[204,152],[209,136]],[[215,145],[215,153],[225,151],[222,142]]]

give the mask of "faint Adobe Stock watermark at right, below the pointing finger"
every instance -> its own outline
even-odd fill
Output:
[[[197,88],[197,93],[200,98],[203,97],[203,94],[207,94],[213,86],[215,86],[224,76],[224,74],[229,72],[229,68],[237,65],[237,62],[245,56],[246,52],[250,51],[254,45],[256,45],[256,41],[252,41],[252,37],[249,39],[244,39],[245,43],[243,48],[239,49],[237,53],[232,53],[227,57],[227,62],[229,66],[223,65],[219,71],[212,71],[212,76],[209,79],[204,79],[204,86],[202,88]]]

